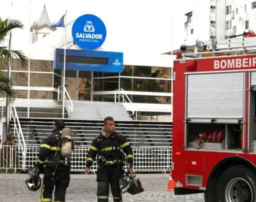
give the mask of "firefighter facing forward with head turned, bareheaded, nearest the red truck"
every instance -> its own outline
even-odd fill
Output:
[[[130,169],[133,172],[133,151],[127,138],[115,132],[113,117],[104,119],[104,127],[90,145],[86,160],[86,174],[90,174],[92,163],[97,156],[97,196],[98,202],[108,201],[109,184],[115,202],[122,201],[119,179],[124,173],[121,149],[125,151]]]

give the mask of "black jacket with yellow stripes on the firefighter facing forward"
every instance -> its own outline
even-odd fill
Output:
[[[117,132],[110,133],[106,136],[104,128],[90,145],[88,152],[86,167],[92,166],[97,154],[97,162],[104,162],[106,166],[115,164],[123,164],[121,148],[125,151],[126,158],[130,166],[133,166],[133,150],[127,138]]]

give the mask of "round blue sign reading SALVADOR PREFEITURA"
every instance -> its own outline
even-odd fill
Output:
[[[80,48],[95,50],[106,39],[106,26],[96,15],[82,15],[73,23],[72,37]]]

